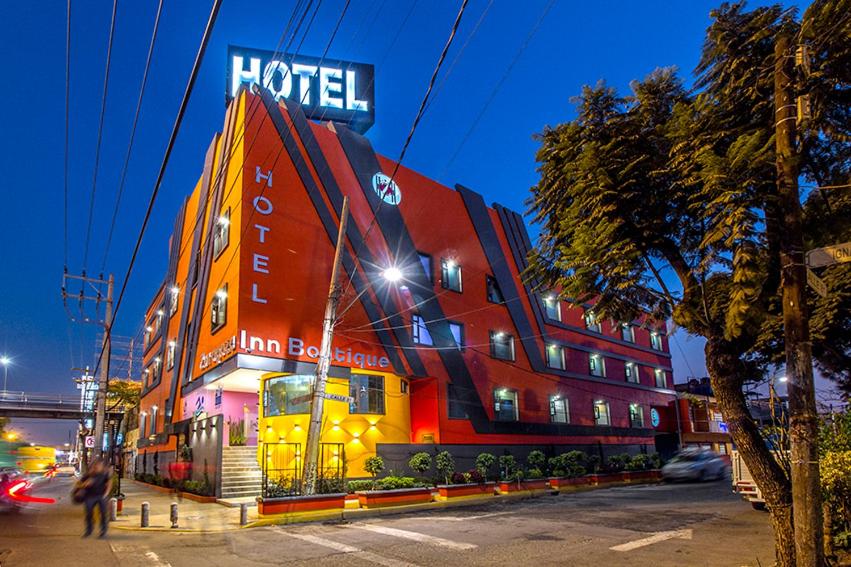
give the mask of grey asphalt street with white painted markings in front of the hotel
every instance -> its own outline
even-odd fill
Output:
[[[82,539],[69,480],[58,499],[0,516],[0,566],[770,565],[768,517],[728,482],[645,485],[224,533],[111,530]]]

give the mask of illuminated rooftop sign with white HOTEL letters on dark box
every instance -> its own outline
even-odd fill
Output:
[[[366,132],[375,122],[375,68],[366,63],[228,47],[227,98],[242,85],[267,88],[275,100],[300,103],[308,118]]]

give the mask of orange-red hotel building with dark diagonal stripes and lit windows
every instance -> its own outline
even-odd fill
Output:
[[[164,470],[183,444],[209,468],[217,445],[262,445],[270,429],[287,437],[264,422],[272,412],[307,423],[309,384],[261,388],[315,371],[344,195],[330,376],[350,391],[351,413],[376,416],[369,443],[345,440],[366,447],[359,458],[675,443],[663,325],[600,321],[592,305],[533,292],[520,276],[531,244],[519,214],[397,166],[291,101],[242,89],[177,215],[146,313],[137,470]],[[382,277],[388,267],[399,282]]]

